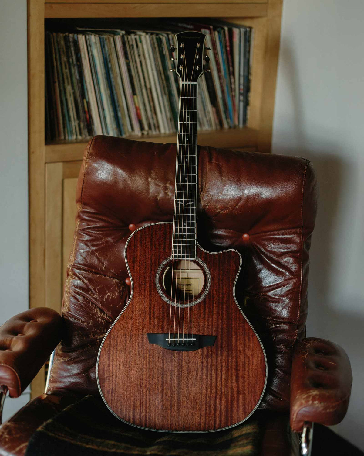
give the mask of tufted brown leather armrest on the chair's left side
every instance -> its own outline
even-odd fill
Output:
[[[13,316],[0,327],[0,385],[18,397],[61,340],[62,318],[47,307]]]

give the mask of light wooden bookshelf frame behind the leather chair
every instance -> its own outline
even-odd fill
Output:
[[[213,17],[254,28],[248,125],[202,132],[198,143],[269,152],[283,0],[28,0],[30,307],[60,310],[86,142],[45,144],[45,19]],[[176,142],[176,135],[132,138]],[[32,397],[44,392],[44,368]]]

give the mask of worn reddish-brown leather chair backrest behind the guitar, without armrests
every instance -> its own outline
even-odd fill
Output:
[[[62,307],[65,333],[48,391],[97,394],[98,348],[129,294],[128,226],[172,220],[175,163],[174,144],[96,136],[87,146]],[[268,358],[260,407],[288,409],[292,349],[305,336],[313,168],[297,157],[201,147],[198,189],[201,246],[243,255],[236,295]]]

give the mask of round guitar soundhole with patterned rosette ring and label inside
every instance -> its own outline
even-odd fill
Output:
[[[207,295],[210,285],[210,271],[200,258],[166,258],[156,274],[158,294],[163,301],[176,307],[198,304]]]

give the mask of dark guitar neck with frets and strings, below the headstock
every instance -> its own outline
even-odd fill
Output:
[[[181,83],[172,258],[196,258],[197,82]]]

